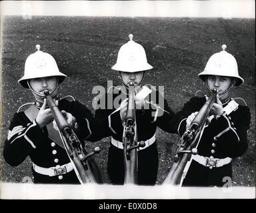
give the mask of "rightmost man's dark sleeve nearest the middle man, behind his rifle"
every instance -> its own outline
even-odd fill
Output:
[[[175,132],[182,136],[186,130],[187,125],[187,117],[198,110],[197,106],[198,98],[193,97],[187,103],[185,103],[184,107],[181,111],[177,112],[175,116],[171,120],[169,120],[169,132]]]

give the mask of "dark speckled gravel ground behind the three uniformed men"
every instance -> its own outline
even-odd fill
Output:
[[[25,59],[35,51],[35,45],[53,55],[61,72],[68,78],[61,85],[61,95],[73,95],[91,108],[96,85],[120,85],[117,73],[111,70],[119,47],[127,42],[129,33],[147,53],[154,67],[147,73],[144,83],[163,85],[165,99],[175,112],[203,88],[197,79],[209,57],[227,45],[235,56],[239,74],[245,84],[233,91],[233,97],[243,97],[251,108],[251,128],[248,131],[247,152],[233,160],[233,184],[255,186],[255,19],[189,19],[189,18],[122,18],[122,17],[5,17],[3,20],[3,48],[1,71],[0,153],[7,137],[9,120],[19,106],[31,102],[29,91],[22,89],[17,80],[23,76]],[[205,94],[205,90],[201,95]],[[93,110],[93,109],[92,109]],[[157,129],[159,148],[159,174],[161,184],[171,164],[178,137]],[[103,174],[107,176],[109,138],[88,142],[87,150],[99,146],[95,156]],[[1,154],[0,171],[3,182],[22,182],[31,177],[29,158],[12,168]]]

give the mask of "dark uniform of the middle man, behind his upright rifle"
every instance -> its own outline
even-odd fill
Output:
[[[120,95],[120,93],[118,94]],[[106,93],[101,100],[105,100],[105,109],[99,108],[95,111],[95,117],[105,120],[104,125],[107,128],[106,136],[112,136],[115,140],[122,142],[123,138],[123,125],[120,117],[120,110],[116,108],[107,109],[107,102],[115,103],[115,98],[118,96],[113,93]],[[113,96],[113,98],[112,98]],[[154,96],[154,98],[153,98]],[[126,96],[125,96],[126,98]],[[163,97],[162,97],[163,98]],[[159,104],[159,93],[152,92],[147,98],[148,101],[153,101],[155,104]],[[145,141],[152,138],[155,134],[157,126],[162,130],[169,130],[168,121],[173,117],[173,111],[168,107],[167,101],[163,100],[163,109],[159,108],[161,116],[155,116],[156,108],[153,105],[147,105],[145,109],[137,109],[135,112],[136,124],[137,124],[137,139],[139,141]],[[121,104],[119,102],[118,107]],[[118,108],[117,107],[117,108]],[[147,109],[146,109],[147,108]],[[160,115],[159,114],[159,115]],[[147,148],[138,150],[137,152],[138,162],[138,184],[141,185],[153,185],[157,180],[158,171],[158,151],[157,143],[153,142]],[[123,160],[123,148],[117,148],[112,143],[109,146],[109,156],[107,163],[107,172],[113,184],[124,183],[124,160]]]

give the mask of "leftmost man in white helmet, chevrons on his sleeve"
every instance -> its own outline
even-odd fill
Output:
[[[51,55],[40,51],[40,45],[36,47],[37,52],[27,57],[24,75],[18,81],[22,87],[31,89],[35,101],[25,103],[13,115],[3,157],[11,166],[18,166],[29,157],[33,163],[33,182],[36,184],[80,184],[81,178],[77,175],[67,149],[73,150],[78,146],[81,149],[85,146],[85,138],[91,141],[101,140],[105,128],[101,120],[93,118],[89,108],[75,101],[70,95],[57,97],[57,86],[64,81],[66,75],[59,72]],[[55,105],[49,99],[48,93]],[[60,123],[76,131],[75,134],[68,133],[71,140],[77,138],[74,146],[71,144],[67,148],[63,143],[63,138],[69,138],[63,135]],[[95,148],[93,154],[98,151],[99,149]],[[95,174],[95,180],[101,182],[101,174],[95,162],[88,162],[88,166],[93,175]]]

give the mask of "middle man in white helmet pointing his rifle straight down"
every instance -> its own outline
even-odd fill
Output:
[[[134,104],[134,108],[131,108],[135,109],[136,129],[134,135],[137,138],[135,140],[145,142],[143,147],[141,143],[138,143],[140,147],[137,148],[138,152],[136,154],[137,174],[135,174],[135,184],[153,186],[157,180],[159,166],[155,132],[157,126],[162,130],[167,130],[169,128],[169,122],[167,121],[173,118],[174,113],[156,87],[150,85],[149,88],[147,87],[148,84],[141,85],[144,73],[153,67],[147,63],[143,46],[133,41],[133,35],[129,35],[129,39],[130,41],[119,49],[117,62],[112,67],[113,70],[119,71],[124,87],[122,86],[121,89],[113,87],[118,91],[109,90],[101,96],[97,103],[99,108],[95,110],[95,118],[107,118],[108,121],[106,136],[111,136],[111,144],[108,152],[107,174],[113,184],[124,184],[126,168],[123,158],[125,127],[123,124],[131,106],[129,103]],[[134,93],[133,86],[135,94],[131,95],[131,93]]]

